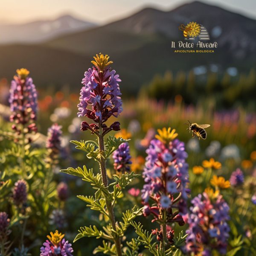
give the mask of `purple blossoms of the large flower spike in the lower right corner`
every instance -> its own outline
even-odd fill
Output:
[[[227,252],[227,239],[230,227],[229,206],[219,194],[212,202],[206,192],[192,201],[188,218],[189,229],[186,239],[188,255],[212,255],[212,250],[221,254]]]

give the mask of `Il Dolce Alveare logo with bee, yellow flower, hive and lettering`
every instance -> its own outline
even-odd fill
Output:
[[[205,28],[200,23],[195,21],[186,24],[181,24],[179,30],[183,32],[184,41],[172,41],[171,47],[175,48],[177,53],[214,53],[218,47],[217,42],[209,42],[210,36]],[[195,39],[197,39],[195,41]],[[178,49],[177,49],[178,48]]]

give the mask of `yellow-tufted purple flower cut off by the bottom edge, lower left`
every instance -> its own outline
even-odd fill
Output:
[[[73,256],[72,245],[66,241],[61,233],[58,233],[58,230],[51,236],[47,236],[49,240],[46,240],[41,247],[40,256]]]

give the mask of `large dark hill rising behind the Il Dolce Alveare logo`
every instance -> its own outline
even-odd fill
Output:
[[[171,48],[172,41],[184,41],[178,26],[190,21],[204,25],[210,42],[218,42],[214,54],[178,54]],[[176,73],[198,66],[209,69],[214,64],[218,72],[228,67],[247,72],[256,67],[255,27],[256,20],[198,1],[168,12],[145,8],[105,26],[62,35],[31,49],[22,45],[0,46],[0,56],[4,54],[7,60],[1,64],[0,77],[9,76],[17,67],[26,67],[28,63],[35,70],[33,76],[39,86],[47,81],[60,84],[65,78],[72,87],[80,88],[81,76],[90,67],[91,56],[99,52],[110,55],[114,61],[124,94],[137,93],[156,73],[163,74],[166,70]]]

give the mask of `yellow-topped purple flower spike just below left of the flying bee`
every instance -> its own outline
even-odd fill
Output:
[[[166,226],[166,237],[174,243],[174,230],[170,224],[175,222],[183,226],[186,214],[186,199],[189,190],[187,185],[188,164],[184,143],[175,139],[177,134],[171,128],[158,130],[159,135],[151,140],[146,150],[142,189],[144,216],[153,215],[153,221],[161,225],[161,230],[152,230],[158,241],[163,240],[163,225]],[[178,211],[177,211],[178,210]]]

